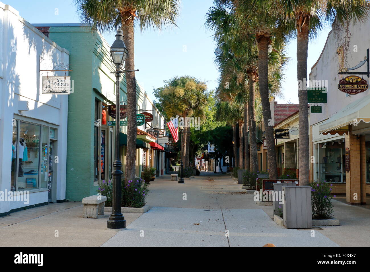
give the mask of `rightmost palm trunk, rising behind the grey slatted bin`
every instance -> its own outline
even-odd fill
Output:
[[[307,51],[309,41],[309,17],[305,24],[297,27],[297,82],[299,86],[299,185],[309,185],[309,137],[307,109]],[[305,84],[303,84],[305,82]]]

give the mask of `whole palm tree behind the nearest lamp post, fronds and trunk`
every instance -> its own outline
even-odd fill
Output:
[[[121,27],[128,50],[126,70],[134,70],[134,24],[140,30],[161,28],[175,24],[179,0],[75,0],[83,23],[91,24],[101,32],[111,32]],[[127,158],[125,181],[135,178],[136,161],[136,79],[135,72],[125,73],[127,84]]]

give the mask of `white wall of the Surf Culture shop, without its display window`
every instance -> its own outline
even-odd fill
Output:
[[[39,67],[39,58],[45,60]],[[12,120],[27,119],[57,128],[57,199],[65,199],[67,158],[68,95],[41,94],[41,70],[51,69],[51,61],[68,63],[69,52],[59,47],[21,18],[18,11],[0,2],[0,191],[10,191]],[[44,74],[42,74],[44,73]],[[48,75],[64,75],[49,72]],[[67,74],[68,75],[68,74]],[[28,101],[30,111],[18,111],[18,102]],[[40,121],[41,120],[41,121]],[[30,194],[30,204],[47,202],[46,192]],[[0,202],[0,213],[19,208],[22,203]]]

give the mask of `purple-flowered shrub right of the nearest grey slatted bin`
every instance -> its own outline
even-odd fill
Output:
[[[333,184],[326,181],[311,181],[312,219],[330,219],[333,216]],[[334,195],[335,197],[335,195]]]

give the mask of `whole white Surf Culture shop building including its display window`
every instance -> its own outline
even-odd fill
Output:
[[[68,95],[41,91],[43,76],[64,72],[40,70],[62,70],[68,58],[0,2],[0,216],[65,200]]]

